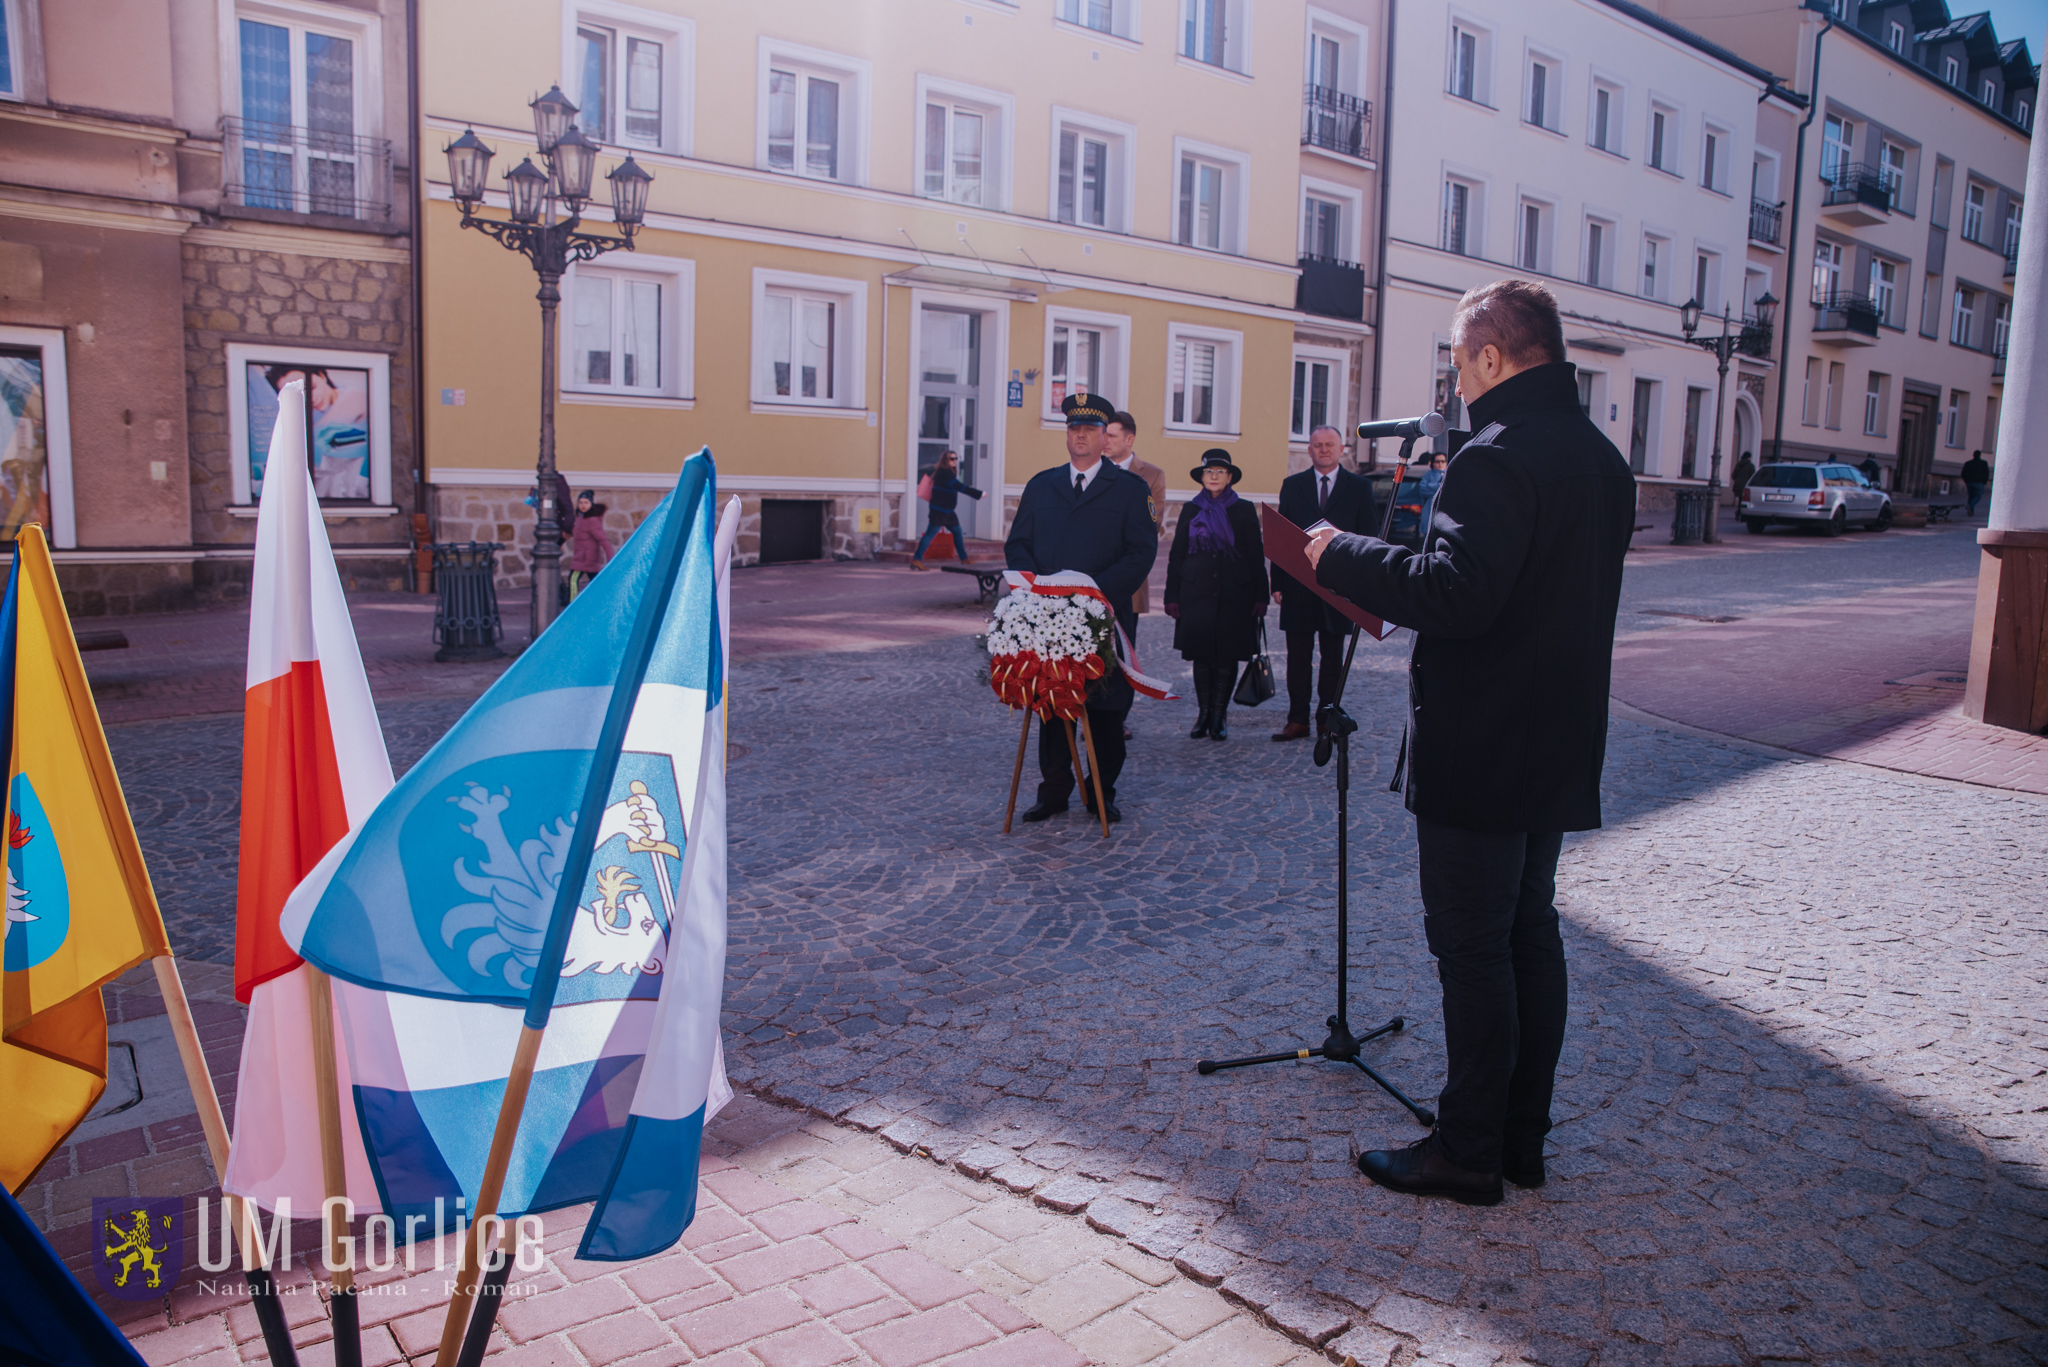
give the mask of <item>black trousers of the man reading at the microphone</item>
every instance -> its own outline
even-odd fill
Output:
[[[1565,1049],[1559,834],[1497,834],[1415,818],[1421,908],[1444,984],[1448,1078],[1436,1148],[1475,1172],[1542,1156]]]

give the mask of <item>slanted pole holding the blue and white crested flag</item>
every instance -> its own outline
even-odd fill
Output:
[[[709,447],[705,455],[709,455]],[[627,723],[633,719],[641,680],[647,678],[647,662],[653,658],[655,637],[659,635],[662,619],[668,615],[670,598],[676,592],[676,576],[682,570],[682,553],[688,547],[682,527],[684,523],[690,527],[696,525],[696,508],[684,508],[684,492],[690,488],[688,461],[684,461],[682,471],[682,482],[670,494],[668,521],[662,525],[662,547],[655,553],[653,574],[641,596],[639,617],[633,621],[633,633],[627,637],[625,652],[621,652],[618,680],[612,685],[612,697],[604,707],[604,726],[598,730],[598,744],[590,754],[590,781],[584,785],[584,801],[575,816],[575,836],[569,840],[569,857],[561,869],[561,883],[555,887],[555,910],[547,922],[547,939],[541,943],[532,992],[526,998],[526,1025],[520,1029],[518,1047],[512,1053],[512,1076],[506,1078],[506,1094],[498,1105],[498,1127],[492,1131],[492,1152],[483,1160],[483,1180],[477,1185],[475,1215],[469,1221],[469,1232],[463,1234],[463,1260],[455,1267],[455,1295],[449,1297],[449,1318],[440,1326],[440,1349],[434,1355],[434,1367],[457,1367],[457,1357],[463,1349],[463,1328],[473,1310],[471,1301],[475,1299],[477,1275],[481,1271],[477,1267],[477,1226],[498,1215],[506,1168],[512,1164],[512,1140],[518,1135],[520,1113],[526,1109],[526,1088],[532,1084],[532,1066],[541,1055],[541,1035],[547,1031],[547,1014],[555,1004],[555,984],[561,982],[561,955],[569,947],[569,930],[584,894],[584,877],[590,873],[596,832],[604,822],[604,799],[610,797],[612,781],[618,777],[618,752],[625,748]],[[696,498],[696,494],[692,492],[690,498]],[[496,1318],[496,1297],[483,1314]]]

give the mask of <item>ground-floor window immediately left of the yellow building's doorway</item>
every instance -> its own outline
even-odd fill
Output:
[[[864,408],[866,283],[754,271],[754,400]]]

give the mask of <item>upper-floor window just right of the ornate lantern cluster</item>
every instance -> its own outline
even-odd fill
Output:
[[[627,4],[586,0],[573,12],[569,96],[575,123],[614,148],[688,154],[696,25]]]

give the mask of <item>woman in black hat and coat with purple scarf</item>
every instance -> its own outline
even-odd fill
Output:
[[[1190,740],[1227,740],[1225,713],[1237,666],[1260,650],[1266,615],[1266,543],[1260,514],[1231,488],[1245,471],[1231,453],[1210,449],[1188,471],[1202,492],[1182,508],[1174,549],[1165,557],[1165,615],[1174,619],[1174,650],[1194,664],[1200,715]]]

